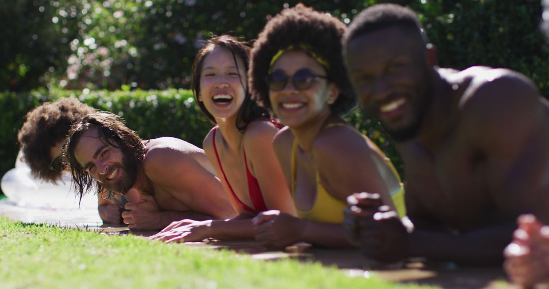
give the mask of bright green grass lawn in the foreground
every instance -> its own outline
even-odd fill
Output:
[[[414,288],[318,263],[255,261],[132,235],[0,217],[0,288]]]

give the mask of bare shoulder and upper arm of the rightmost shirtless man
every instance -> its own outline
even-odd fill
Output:
[[[503,215],[534,213],[549,222],[547,101],[530,80],[507,70],[476,81],[463,105],[463,128],[477,125],[467,137],[485,159],[486,189]]]

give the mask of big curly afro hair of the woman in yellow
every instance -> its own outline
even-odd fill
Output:
[[[265,80],[270,62],[278,51],[290,45],[305,45],[328,62],[328,79],[338,86],[338,99],[330,105],[332,113],[349,112],[356,105],[356,96],[341,57],[341,37],[345,30],[346,25],[339,19],[303,4],[282,10],[267,22],[251,49],[248,82],[254,99],[272,111]]]

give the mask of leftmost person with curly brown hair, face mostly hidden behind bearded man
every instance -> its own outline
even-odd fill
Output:
[[[18,133],[23,160],[34,177],[51,183],[59,183],[64,167],[61,149],[69,133],[70,126],[86,114],[95,112],[91,106],[74,97],[66,97],[53,102],[44,102],[26,115],[26,120]],[[36,192],[40,194],[40,192]],[[121,212],[128,200],[139,201],[139,195],[132,193],[107,197],[106,192],[98,195],[99,217],[106,223],[121,223]]]

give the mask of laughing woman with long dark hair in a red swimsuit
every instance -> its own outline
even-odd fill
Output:
[[[295,215],[292,198],[272,149],[279,125],[269,120],[247,89],[250,48],[223,35],[198,51],[192,68],[195,100],[216,124],[204,138],[204,151],[238,216],[227,221],[174,222],[152,239],[167,242],[253,239],[251,218],[267,209]]]

